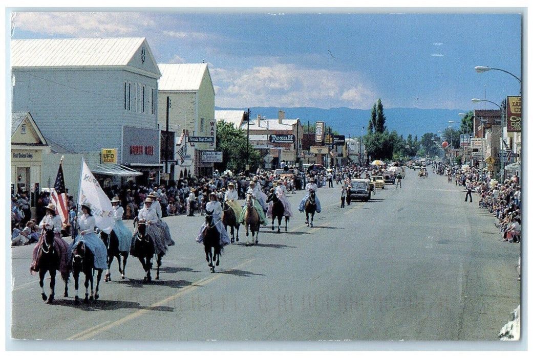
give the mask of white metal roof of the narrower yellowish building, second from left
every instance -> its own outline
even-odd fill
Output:
[[[159,91],[198,91],[207,63],[158,63]]]

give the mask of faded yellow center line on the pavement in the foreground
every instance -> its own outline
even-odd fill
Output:
[[[230,270],[236,270],[239,267],[244,266],[244,265],[246,265],[246,264],[248,264],[248,263],[250,263],[250,262],[252,262],[254,260],[255,260],[254,258],[248,259],[245,262],[233,267]],[[163,305],[163,304],[165,304],[165,303],[167,303],[169,301],[172,301],[173,299],[176,299],[177,297],[185,295],[185,294],[187,294],[187,293],[189,293],[189,292],[191,292],[193,290],[196,290],[199,287],[203,287],[206,284],[208,284],[209,282],[212,282],[212,281],[216,280],[217,278],[221,278],[221,277],[222,277],[222,275],[212,275],[212,276],[209,276],[208,278],[201,279],[199,281],[193,282],[189,286],[184,287],[183,289],[181,289],[179,292],[177,292],[177,294],[172,295],[172,296],[168,296],[167,298],[162,299],[159,302],[156,302],[154,304],[149,305],[147,308],[139,308],[137,311],[135,311],[135,312],[133,312],[131,314],[128,314],[127,316],[125,316],[125,317],[123,317],[123,318],[121,318],[121,319],[119,319],[117,321],[114,321],[114,322],[108,321],[108,322],[110,322],[109,324],[106,324],[106,323],[99,324],[98,326],[91,327],[91,328],[89,328],[89,329],[87,329],[87,330],[85,330],[83,332],[79,332],[76,335],[71,336],[71,337],[69,337],[67,339],[68,340],[91,339],[92,337],[98,335],[98,333],[100,333],[100,332],[107,331],[107,330],[109,330],[111,328],[119,326],[120,324],[123,324],[125,322],[131,321],[131,320],[133,320],[135,318],[138,318],[139,316],[150,312],[151,308]]]

